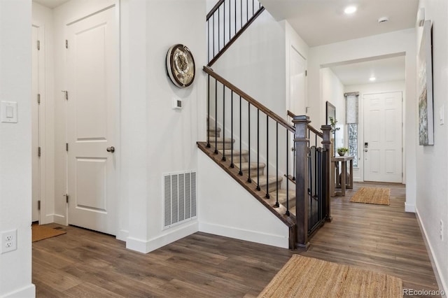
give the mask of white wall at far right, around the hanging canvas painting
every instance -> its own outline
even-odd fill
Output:
[[[439,285],[448,292],[448,4],[444,0],[421,0],[426,20],[433,24],[433,103],[434,146],[416,146],[416,213],[433,255]],[[420,48],[421,27],[417,27],[415,46]],[[416,84],[416,80],[414,83]],[[417,111],[417,104],[414,110]],[[445,124],[440,125],[443,109]],[[417,114],[416,114],[417,115]],[[416,118],[416,116],[414,116]],[[409,118],[408,118],[409,119]],[[416,140],[417,141],[417,140]],[[416,142],[415,141],[415,142]],[[443,221],[443,241],[440,239]]]

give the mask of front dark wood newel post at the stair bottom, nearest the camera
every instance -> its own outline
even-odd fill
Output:
[[[295,116],[295,243],[297,248],[307,249],[308,242],[308,123],[306,115]]]

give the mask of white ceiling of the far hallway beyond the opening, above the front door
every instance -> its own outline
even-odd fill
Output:
[[[330,69],[345,86],[405,80],[405,56],[332,66]],[[372,76],[377,80],[370,82]]]

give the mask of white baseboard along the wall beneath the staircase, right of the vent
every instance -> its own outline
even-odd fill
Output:
[[[279,248],[289,247],[289,231],[285,225],[286,234],[284,236],[266,234],[258,231],[249,231],[247,229],[237,229],[235,227],[227,227],[223,225],[214,225],[207,222],[200,222],[200,232],[215,234],[219,236],[251,241],[255,243],[266,244],[268,246],[276,246]]]

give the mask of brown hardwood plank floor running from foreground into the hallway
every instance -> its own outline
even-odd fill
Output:
[[[64,227],[66,234],[33,243],[36,296],[256,297],[293,253],[437,290],[416,218],[404,212],[405,188],[377,185],[391,188],[391,206],[350,203],[360,186],[332,198],[333,221],[304,253],[198,232],[145,255],[113,236]]]

